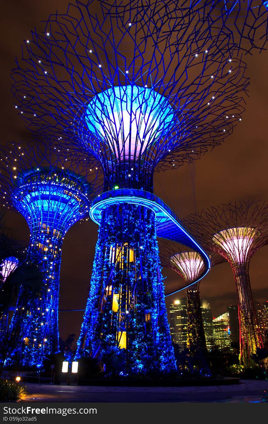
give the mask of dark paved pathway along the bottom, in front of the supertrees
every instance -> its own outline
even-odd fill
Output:
[[[268,402],[268,381],[226,386],[105,387],[28,383],[23,402]]]

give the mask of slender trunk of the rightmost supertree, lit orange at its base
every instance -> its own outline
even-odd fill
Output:
[[[238,318],[240,324],[240,364],[254,365],[251,355],[257,347],[262,347],[262,337],[258,326],[249,280],[249,265],[233,267],[238,296]]]

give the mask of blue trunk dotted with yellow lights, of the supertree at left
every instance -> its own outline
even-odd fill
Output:
[[[11,320],[9,346],[12,350],[6,365],[19,360],[22,365],[40,366],[45,355],[58,351],[58,298],[61,264],[61,239],[50,239],[38,233],[28,262],[36,265],[30,287],[22,285]],[[54,248],[50,248],[51,243]],[[36,247],[41,249],[36,250]],[[47,247],[45,247],[47,245]],[[55,249],[55,246],[57,247]],[[27,272],[27,271],[26,271]]]

